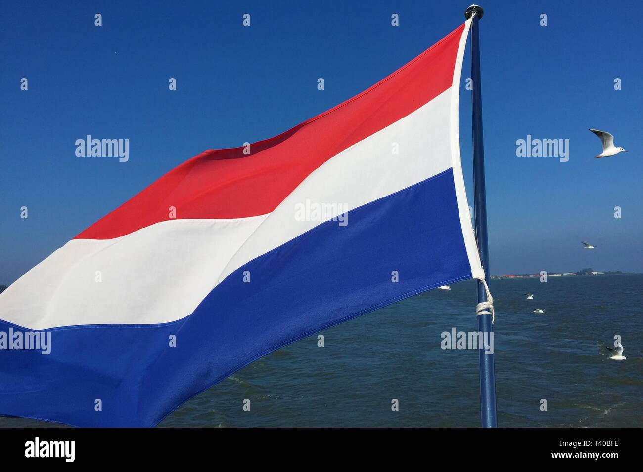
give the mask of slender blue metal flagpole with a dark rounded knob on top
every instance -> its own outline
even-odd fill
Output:
[[[471,78],[473,91],[471,96],[471,117],[473,130],[473,195],[476,215],[476,241],[480,251],[482,268],[487,275],[489,272],[489,247],[487,245],[487,197],[484,179],[484,146],[482,142],[482,90],[480,87],[480,41],[478,39],[478,21],[484,15],[484,10],[478,5],[471,5],[464,12],[466,19],[473,16],[471,21]],[[482,281],[478,281],[478,303],[487,301],[487,292]],[[478,331],[493,333],[491,315],[478,315]],[[494,372],[493,354],[486,354],[480,349],[480,419],[482,426],[493,428],[497,425],[496,417],[496,374]]]

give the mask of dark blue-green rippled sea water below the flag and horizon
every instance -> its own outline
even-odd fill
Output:
[[[643,426],[643,274],[493,280],[490,287],[500,426]],[[476,331],[475,282],[451,289],[287,345],[186,401],[159,426],[478,426],[478,351],[440,346],[445,331]],[[613,346],[615,335],[625,361],[609,360],[602,347]],[[48,425],[55,426],[0,418],[0,426]]]

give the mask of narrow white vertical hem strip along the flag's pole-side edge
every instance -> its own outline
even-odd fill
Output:
[[[484,280],[484,269],[482,268],[478,245],[476,244],[473,227],[471,226],[469,202],[467,201],[467,191],[464,186],[464,177],[462,176],[462,162],[460,161],[460,76],[462,75],[462,61],[464,60],[464,49],[466,48],[471,21],[472,19],[469,18],[464,23],[464,30],[462,30],[462,37],[460,37],[460,46],[458,46],[458,55],[455,58],[453,83],[451,84],[451,166],[453,167],[453,181],[455,182],[455,196],[458,201],[458,211],[460,212],[462,236],[464,237],[464,246],[467,249],[467,256],[469,256],[471,275],[474,279]]]

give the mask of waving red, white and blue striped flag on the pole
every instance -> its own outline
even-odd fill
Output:
[[[484,279],[458,144],[468,30],[284,134],[193,157],[24,274],[0,332],[50,332],[50,353],[0,351],[0,414],[152,426],[279,347]]]

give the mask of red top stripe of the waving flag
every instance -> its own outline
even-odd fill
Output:
[[[208,150],[174,168],[76,236],[105,240],[176,218],[271,213],[334,155],[419,109],[451,87],[464,24],[385,79],[276,137]]]

